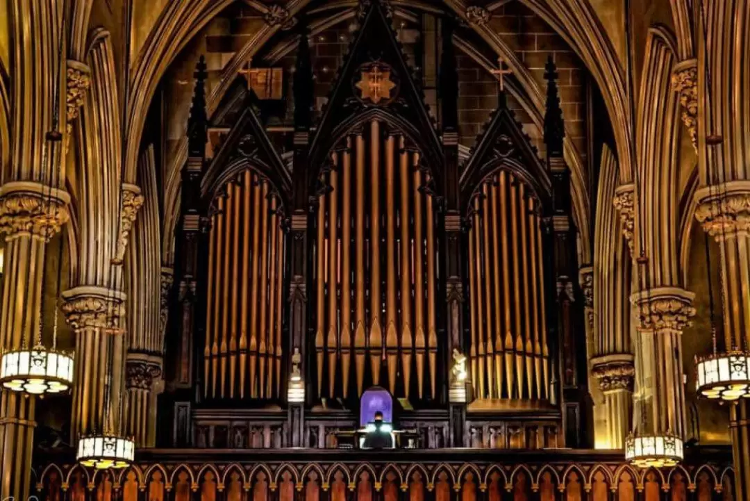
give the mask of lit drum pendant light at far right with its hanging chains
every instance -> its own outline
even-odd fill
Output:
[[[703,29],[703,40],[707,41],[706,23],[703,17],[703,6],[700,8],[700,23]],[[708,117],[708,130],[712,129],[712,105],[711,105],[711,68],[706,64],[706,117]],[[706,137],[706,145],[714,147],[721,144],[722,138],[717,134],[709,134]],[[719,172],[713,172],[714,163],[706,166],[708,181],[708,197],[710,220],[718,221],[719,234],[717,239],[726,241],[724,203],[727,196],[726,185],[722,184]],[[716,185],[714,188],[713,185]],[[717,212],[714,213],[714,208]],[[735,335],[733,332],[724,332],[724,347],[718,348],[716,335],[716,322],[714,314],[713,290],[711,283],[711,262],[709,259],[709,231],[706,229],[706,269],[708,270],[708,292],[709,292],[709,314],[711,322],[712,352],[706,356],[695,358],[695,390],[701,398],[709,400],[735,402],[741,398],[750,398],[750,351],[745,346],[745,336]],[[721,245],[721,244],[720,244]],[[718,287],[721,291],[721,308],[727,305],[724,293],[724,267],[718,268]],[[726,325],[726,324],[725,324]]]

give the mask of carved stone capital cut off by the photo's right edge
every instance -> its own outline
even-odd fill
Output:
[[[750,235],[750,181],[728,181],[695,192],[695,217],[717,241]]]

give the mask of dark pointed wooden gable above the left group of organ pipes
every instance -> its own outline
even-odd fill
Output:
[[[239,85],[240,80],[226,93],[211,119],[213,130],[232,125],[221,133],[203,179],[202,193],[210,193],[226,182],[238,171],[235,167],[252,166],[271,181],[287,205],[292,192],[290,172],[260,121],[257,111],[260,101],[252,89]]]

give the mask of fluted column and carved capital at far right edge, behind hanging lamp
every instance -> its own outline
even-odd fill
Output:
[[[750,180],[703,187],[695,215],[719,246],[724,338],[719,351],[750,350]],[[750,493],[750,403],[730,406],[737,499]]]

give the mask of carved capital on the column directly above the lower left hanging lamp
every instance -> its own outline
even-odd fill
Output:
[[[80,286],[62,293],[62,313],[73,329],[98,328],[121,331],[125,293],[106,287]]]

